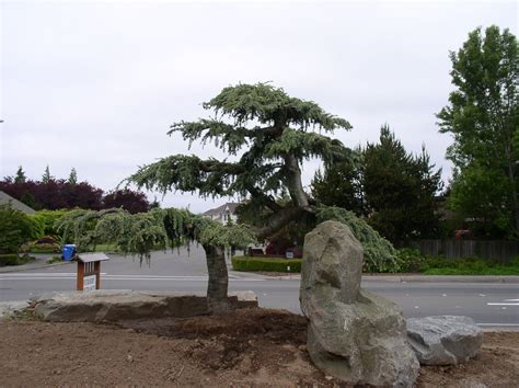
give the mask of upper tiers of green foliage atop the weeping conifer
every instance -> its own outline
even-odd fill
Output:
[[[268,83],[224,88],[203,106],[214,117],[175,123],[169,135],[180,134],[191,144],[212,142],[234,162],[194,155],[175,155],[140,168],[128,181],[147,190],[198,192],[201,196],[252,196],[257,212],[266,196],[289,191],[284,160],[320,158],[325,163],[344,158],[338,140],[315,130],[350,129],[349,123],[324,112],[318,104],[290,98]]]

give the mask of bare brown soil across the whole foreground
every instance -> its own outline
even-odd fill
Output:
[[[247,309],[119,324],[0,323],[0,386],[344,386],[305,351],[307,322]],[[486,333],[476,360],[423,367],[418,387],[516,387],[519,333]]]

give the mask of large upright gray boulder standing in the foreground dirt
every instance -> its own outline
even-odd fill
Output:
[[[310,357],[353,385],[411,387],[419,364],[405,320],[395,304],[360,289],[362,255],[344,224],[325,221],[307,235],[300,301]]]

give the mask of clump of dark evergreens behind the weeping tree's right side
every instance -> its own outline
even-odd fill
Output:
[[[425,149],[418,156],[408,153],[384,125],[379,144],[368,144],[356,158],[318,173],[312,193],[325,205],[368,217],[382,236],[402,243],[435,235],[441,186],[440,170],[434,171]]]

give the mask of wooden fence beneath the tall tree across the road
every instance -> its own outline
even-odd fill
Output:
[[[448,259],[481,258],[507,263],[519,255],[519,241],[418,240],[411,247],[422,254]]]

